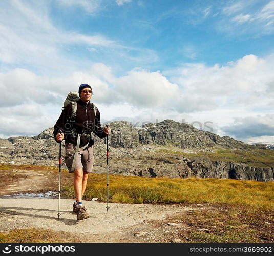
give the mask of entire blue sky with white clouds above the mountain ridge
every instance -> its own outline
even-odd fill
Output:
[[[274,0],[1,0],[0,137],[56,123],[87,83],[101,123],[165,119],[274,144]]]

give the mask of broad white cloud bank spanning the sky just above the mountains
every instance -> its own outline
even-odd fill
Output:
[[[274,126],[271,117],[274,114],[273,66],[274,55],[265,58],[246,55],[224,66],[192,63],[163,73],[135,68],[120,77],[103,63],[62,77],[14,69],[0,73],[3,92],[0,133],[37,135],[52,127],[68,92],[88,83],[94,91],[92,101],[98,106],[103,121],[123,119],[142,124],[185,119],[198,126],[210,122],[215,133],[225,135],[237,131],[226,127],[244,128],[235,120],[251,125],[250,116],[256,115],[254,128],[245,131],[250,133],[248,136],[263,136],[258,129],[270,131]],[[242,136],[240,132],[235,134],[236,139]]]

